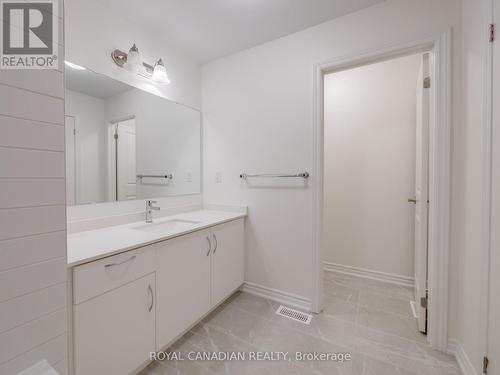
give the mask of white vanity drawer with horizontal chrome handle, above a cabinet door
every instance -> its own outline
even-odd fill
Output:
[[[73,269],[73,303],[79,304],[154,271],[152,246],[77,266]]]

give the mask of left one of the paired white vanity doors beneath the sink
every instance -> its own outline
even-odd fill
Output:
[[[157,350],[210,309],[209,234],[202,230],[156,245]]]

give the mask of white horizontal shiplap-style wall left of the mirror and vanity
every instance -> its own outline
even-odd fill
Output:
[[[68,373],[63,1],[57,70],[0,72],[0,374]]]

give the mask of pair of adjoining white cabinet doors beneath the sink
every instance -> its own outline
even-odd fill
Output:
[[[243,219],[156,244],[156,349],[243,284]]]

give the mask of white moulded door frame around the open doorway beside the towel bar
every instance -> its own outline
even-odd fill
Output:
[[[413,53],[432,51],[429,129],[429,273],[428,330],[430,345],[448,348],[448,262],[450,247],[451,160],[451,29],[405,44],[387,45],[333,58],[314,65],[313,92],[313,299],[311,309],[323,308],[323,100],[324,75]]]

